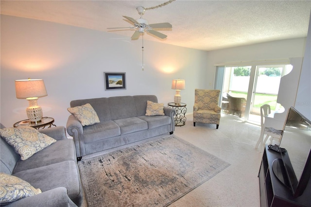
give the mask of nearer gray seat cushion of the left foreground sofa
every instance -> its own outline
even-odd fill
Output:
[[[29,169],[15,173],[17,176],[29,182],[42,192],[58,187],[67,188],[69,198],[72,200],[80,195],[78,166],[74,161],[64,161],[44,167]]]

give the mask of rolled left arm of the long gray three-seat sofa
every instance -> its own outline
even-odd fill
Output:
[[[84,138],[83,138],[83,126],[77,118],[73,115],[68,117],[67,121],[67,133],[73,138],[73,142],[76,148],[77,157],[86,155]]]

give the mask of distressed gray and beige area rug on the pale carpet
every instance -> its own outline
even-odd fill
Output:
[[[163,207],[230,164],[165,135],[78,165],[88,207]]]

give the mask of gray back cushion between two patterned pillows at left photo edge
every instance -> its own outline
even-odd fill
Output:
[[[0,139],[0,171],[1,173],[12,174],[18,160],[20,159],[20,156],[4,139]]]

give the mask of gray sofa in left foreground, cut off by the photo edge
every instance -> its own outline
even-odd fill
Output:
[[[75,147],[72,139],[66,137],[65,130],[63,126],[39,130],[40,133],[57,141],[26,160],[21,160],[13,147],[1,138],[1,173],[17,176],[42,191],[6,206],[76,207],[82,205],[84,191]]]

